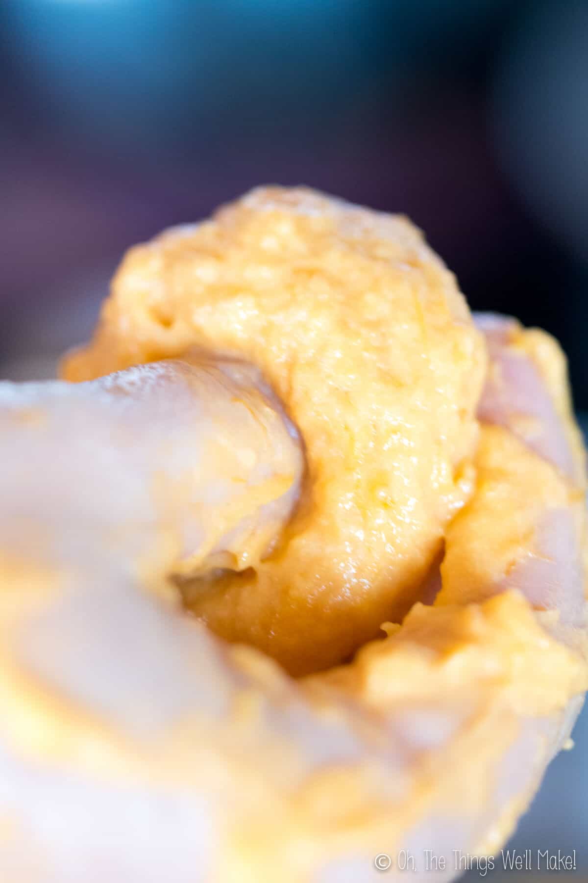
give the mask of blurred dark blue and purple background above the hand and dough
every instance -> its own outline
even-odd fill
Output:
[[[0,371],[87,336],[121,254],[251,185],[403,211],[588,407],[588,4],[2,0]]]

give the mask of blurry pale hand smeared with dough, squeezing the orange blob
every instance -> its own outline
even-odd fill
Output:
[[[0,384],[1,879],[368,883],[402,849],[414,879],[425,849],[451,879],[455,849],[498,852],[588,668],[561,353],[495,331],[434,603],[298,680],[214,638],[168,578],[178,556],[263,558],[290,516],[299,437],[254,369]]]

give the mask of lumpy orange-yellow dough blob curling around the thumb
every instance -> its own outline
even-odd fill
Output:
[[[472,494],[486,349],[455,279],[403,217],[259,189],[131,249],[63,374],[195,347],[261,369],[308,468],[272,555],[184,599],[294,674],[345,660],[412,606]]]

